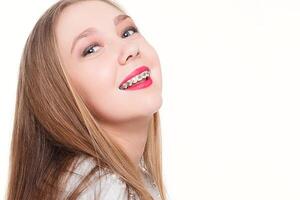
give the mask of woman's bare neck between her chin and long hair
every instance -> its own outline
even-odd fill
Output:
[[[100,122],[100,126],[125,151],[130,160],[138,167],[147,142],[151,117],[139,118],[122,123]]]

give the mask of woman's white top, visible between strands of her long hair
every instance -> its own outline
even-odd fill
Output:
[[[65,186],[66,194],[73,191],[74,187],[82,180],[81,178],[86,175],[95,166],[94,161],[88,157],[80,158],[80,163],[76,166],[75,174],[70,177]],[[93,177],[94,178],[94,177]],[[92,178],[92,180],[94,180]],[[96,178],[96,176],[95,176]],[[152,184],[146,172],[143,177],[144,184],[154,200],[161,200],[158,188]],[[101,178],[98,177],[92,184],[89,184],[78,197],[79,200],[127,200],[128,192],[125,183],[119,178],[117,174],[107,173],[102,174]],[[132,198],[140,200],[138,197]]]

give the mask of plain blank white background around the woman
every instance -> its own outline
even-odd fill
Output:
[[[0,198],[25,40],[50,0],[0,20]],[[172,200],[300,199],[300,1],[119,0],[163,72],[163,167]]]

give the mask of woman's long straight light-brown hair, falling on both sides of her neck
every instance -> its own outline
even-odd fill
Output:
[[[63,9],[81,1],[86,0],[55,3],[40,17],[26,40],[17,86],[8,200],[58,199],[62,177],[80,155],[94,158],[97,164],[68,199],[76,199],[91,176],[103,167],[118,173],[127,188],[141,199],[152,199],[138,169],[99,127],[62,67],[54,28]],[[115,2],[99,1],[124,12]],[[161,155],[160,118],[156,112],[149,124],[143,160],[165,200]]]

